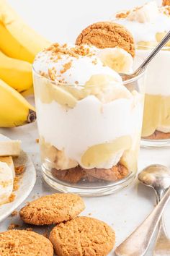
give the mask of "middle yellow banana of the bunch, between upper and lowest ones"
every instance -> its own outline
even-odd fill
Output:
[[[19,92],[27,90],[32,86],[32,64],[12,59],[0,51],[0,78]]]

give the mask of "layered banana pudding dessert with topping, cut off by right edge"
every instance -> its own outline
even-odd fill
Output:
[[[146,58],[170,29],[170,1],[158,7],[150,1],[143,7],[116,14],[115,22],[133,34],[138,56]],[[146,76],[146,99],[141,145],[170,146],[170,43],[151,61]]]

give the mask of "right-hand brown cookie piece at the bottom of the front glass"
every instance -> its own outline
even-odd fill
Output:
[[[109,169],[92,168],[90,170],[86,170],[86,173],[97,179],[104,179],[108,182],[115,182],[117,179],[123,179],[125,176],[128,176],[129,171],[128,168],[122,164],[117,164],[116,166],[112,166],[112,168]]]

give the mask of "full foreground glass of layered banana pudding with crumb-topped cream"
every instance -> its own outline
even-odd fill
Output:
[[[135,177],[144,74],[124,84],[122,48],[54,43],[33,64],[42,175],[61,192],[107,195]]]

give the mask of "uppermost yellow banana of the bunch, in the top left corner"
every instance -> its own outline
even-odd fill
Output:
[[[1,51],[30,63],[39,51],[50,45],[48,40],[24,24],[5,0],[0,0],[0,38]]]

